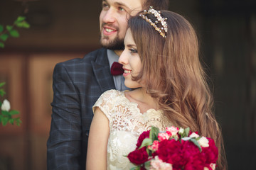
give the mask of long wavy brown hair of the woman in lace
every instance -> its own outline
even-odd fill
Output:
[[[147,93],[159,101],[159,108],[172,124],[213,138],[219,150],[216,169],[227,169],[223,137],[198,57],[195,30],[177,13],[161,11],[161,16],[167,18],[166,38],[142,17],[129,19],[129,28],[142,60],[142,70],[134,81],[143,82]],[[147,17],[153,22],[156,20],[153,15]]]

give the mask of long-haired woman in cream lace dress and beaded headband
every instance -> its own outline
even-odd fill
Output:
[[[221,132],[198,57],[198,40],[185,18],[149,8],[129,19],[119,57],[124,84],[133,91],[106,91],[93,106],[87,169],[130,169],[125,157],[152,125],[174,125],[213,138],[217,169],[225,169]]]

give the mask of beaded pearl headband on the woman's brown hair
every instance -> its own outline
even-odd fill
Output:
[[[167,24],[166,20],[167,18],[163,18],[160,15],[161,11],[156,11],[152,6],[150,6],[149,11],[144,10],[142,14],[139,14],[146,22],[148,22],[151,26],[155,28],[159,32],[159,34],[163,37],[166,38],[166,33],[167,33]],[[151,21],[151,19],[147,18],[145,15],[146,14],[154,14],[156,17],[156,21],[154,23]],[[156,24],[161,23],[161,28],[159,28]]]

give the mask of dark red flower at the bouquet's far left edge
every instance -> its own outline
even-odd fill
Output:
[[[127,157],[130,162],[139,165],[147,162],[149,155],[146,153],[146,147],[142,147],[141,149],[136,149],[129,153]]]

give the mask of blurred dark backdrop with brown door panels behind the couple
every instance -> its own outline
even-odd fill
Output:
[[[23,14],[29,29],[0,49],[0,81],[21,127],[0,126],[0,169],[46,169],[55,63],[100,47],[101,1],[0,1],[0,24]],[[170,0],[196,28],[213,84],[230,170],[256,167],[256,1]]]

